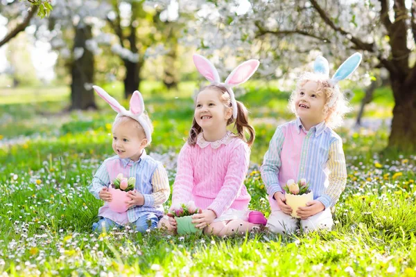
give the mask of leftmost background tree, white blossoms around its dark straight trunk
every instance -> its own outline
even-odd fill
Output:
[[[51,43],[71,74],[69,109],[96,108],[94,56],[101,53],[98,42],[106,42],[100,30],[110,10],[110,5],[101,1],[55,1],[48,20],[36,22],[37,39]]]

